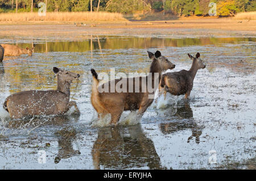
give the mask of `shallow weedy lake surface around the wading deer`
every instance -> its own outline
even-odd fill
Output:
[[[0,169],[217,169],[255,158],[255,40],[2,38],[23,48],[34,45],[35,52],[5,57],[0,64]],[[171,71],[188,70],[192,61],[187,53],[201,53],[207,67],[197,71],[189,102],[183,95],[156,96],[141,120],[127,111],[118,127],[108,127],[108,119],[97,121],[90,103],[90,69],[146,73],[151,64],[147,50],[160,50],[176,65]],[[71,111],[62,117],[11,120],[1,106],[5,98],[23,90],[56,89],[53,66],[81,75],[71,88],[81,116]]]

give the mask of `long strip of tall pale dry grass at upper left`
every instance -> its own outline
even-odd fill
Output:
[[[38,12],[0,13],[0,22],[28,22],[28,21],[125,21],[122,14],[111,12],[47,12],[46,16],[39,16]]]

